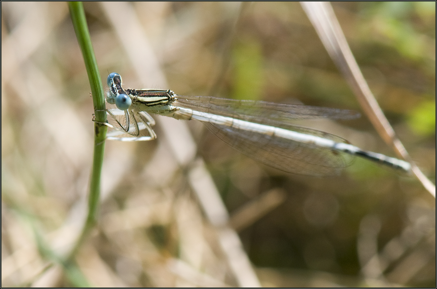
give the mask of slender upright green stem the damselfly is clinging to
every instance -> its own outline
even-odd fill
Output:
[[[90,180],[90,194],[88,196],[88,216],[83,226],[82,233],[75,244],[74,249],[69,255],[68,260],[74,258],[83,240],[87,237],[90,230],[97,223],[98,204],[100,197],[100,179],[104,155],[104,140],[106,138],[107,127],[101,123],[107,121],[103,86],[100,73],[97,67],[94,49],[91,44],[90,32],[88,31],[87,20],[83,10],[82,2],[68,3],[71,20],[73,21],[74,31],[77,41],[82,51],[85,67],[87,68],[88,79],[90,80],[91,93],[94,103],[94,157],[93,168]]]

